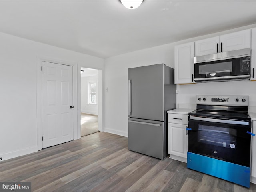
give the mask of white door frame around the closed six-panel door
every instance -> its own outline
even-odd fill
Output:
[[[37,116],[37,149],[42,149],[42,62],[51,62],[62,65],[73,66],[73,135],[74,140],[80,138],[78,126],[78,64],[77,62],[63,61],[43,56],[36,57],[36,116]],[[80,73],[80,70],[79,70]]]

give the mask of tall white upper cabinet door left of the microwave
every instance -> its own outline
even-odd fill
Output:
[[[175,46],[174,56],[174,83],[194,83],[194,42]]]

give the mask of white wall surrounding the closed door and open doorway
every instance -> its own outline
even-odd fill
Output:
[[[80,67],[103,70],[104,59],[4,33],[0,42],[0,157],[6,160],[37,151],[36,58],[77,63],[79,85]]]

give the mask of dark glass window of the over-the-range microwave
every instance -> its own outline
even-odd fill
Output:
[[[210,74],[210,76],[215,76],[217,73],[231,73],[231,72],[232,72],[232,61],[213,63],[213,64],[204,64],[204,65],[198,66],[198,74]]]

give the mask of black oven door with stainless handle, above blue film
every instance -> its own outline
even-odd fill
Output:
[[[189,116],[188,152],[250,167],[251,121]]]

